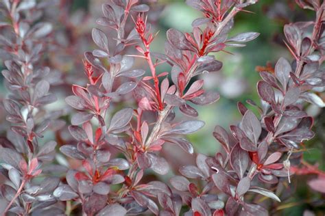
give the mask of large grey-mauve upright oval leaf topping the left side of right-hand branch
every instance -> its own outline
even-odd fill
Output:
[[[261,122],[256,118],[254,113],[248,110],[241,120],[241,128],[245,135],[250,138],[254,144],[257,144],[258,138],[261,135],[262,127]]]

